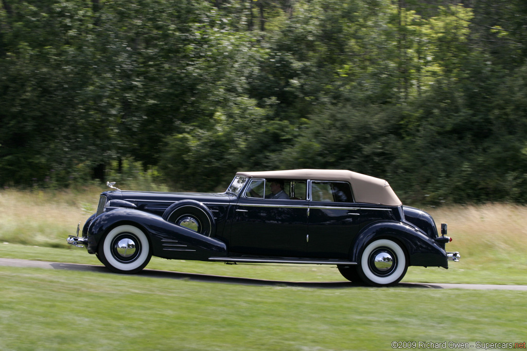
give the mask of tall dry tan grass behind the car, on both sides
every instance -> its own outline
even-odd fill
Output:
[[[66,247],[74,234],[95,212],[101,188],[82,192],[0,191],[0,240],[3,242]],[[436,222],[448,223],[453,242],[448,250],[462,259],[524,254],[527,249],[527,207],[509,204],[450,206],[426,209]]]

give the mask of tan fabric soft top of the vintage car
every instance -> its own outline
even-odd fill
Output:
[[[238,172],[249,178],[336,180],[352,185],[355,201],[359,203],[399,206],[401,200],[384,179],[346,169],[289,169],[287,171]]]

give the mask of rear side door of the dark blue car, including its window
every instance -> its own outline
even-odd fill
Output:
[[[347,182],[312,180],[308,216],[308,257],[347,259],[359,231],[360,208]]]

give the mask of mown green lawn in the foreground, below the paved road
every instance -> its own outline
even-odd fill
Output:
[[[527,294],[247,286],[0,267],[2,350],[383,350],[518,342]]]

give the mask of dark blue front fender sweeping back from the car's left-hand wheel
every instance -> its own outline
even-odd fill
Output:
[[[227,256],[227,246],[218,239],[167,222],[161,216],[141,210],[115,208],[95,217],[87,229],[94,250],[112,228],[130,224],[148,236],[152,255],[174,259],[207,260],[211,256]]]

